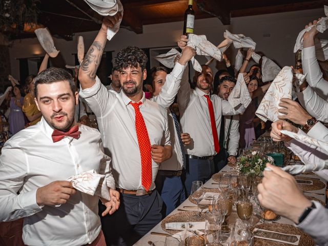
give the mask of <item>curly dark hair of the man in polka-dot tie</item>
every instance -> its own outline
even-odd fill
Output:
[[[128,67],[141,67],[141,70],[146,68],[148,57],[145,51],[141,50],[136,46],[128,46],[124,49],[121,49],[116,57],[113,59],[114,67],[118,67],[121,71],[122,69]]]

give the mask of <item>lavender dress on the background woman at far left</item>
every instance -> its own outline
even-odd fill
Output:
[[[9,113],[9,131],[14,135],[25,128],[25,117],[22,108],[15,104],[15,97],[10,99],[10,113]],[[20,105],[24,103],[24,97],[20,97]]]

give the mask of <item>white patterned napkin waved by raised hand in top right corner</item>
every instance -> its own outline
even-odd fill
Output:
[[[305,32],[309,32],[312,28],[316,28],[319,32],[324,32],[328,28],[328,6],[324,6],[325,17],[322,17],[316,25],[312,25],[303,29],[296,38],[296,44],[294,46],[294,53],[303,49],[303,35]],[[315,39],[316,56],[318,60],[324,61],[328,59],[328,40]]]

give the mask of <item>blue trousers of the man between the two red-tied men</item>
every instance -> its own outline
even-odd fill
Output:
[[[157,174],[156,190],[163,200],[162,216],[165,217],[186,200],[180,177]]]

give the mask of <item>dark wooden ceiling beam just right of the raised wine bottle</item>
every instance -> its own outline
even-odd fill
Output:
[[[230,25],[230,10],[225,1],[217,0],[195,0],[198,9],[203,12],[209,13],[215,17],[218,17],[223,25]]]

